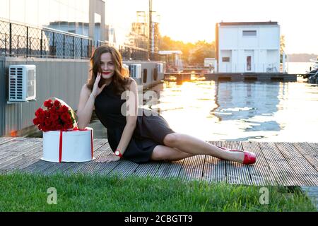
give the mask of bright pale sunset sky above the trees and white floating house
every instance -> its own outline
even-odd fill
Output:
[[[148,0],[106,0],[106,22],[127,28]],[[173,40],[215,40],[218,22],[277,21],[285,35],[286,52],[318,54],[317,0],[153,0],[160,14],[161,35]]]

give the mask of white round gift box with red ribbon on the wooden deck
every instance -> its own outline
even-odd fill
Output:
[[[93,160],[93,129],[43,132],[43,157],[48,162],[87,162]],[[60,156],[61,155],[61,156]],[[61,160],[61,161],[60,161]]]

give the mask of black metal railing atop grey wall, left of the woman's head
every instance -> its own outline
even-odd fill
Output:
[[[0,20],[1,57],[89,59],[91,54],[89,37]]]

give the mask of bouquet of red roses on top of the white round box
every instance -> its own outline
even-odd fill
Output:
[[[43,105],[35,111],[33,119],[33,124],[41,131],[67,131],[77,126],[73,109],[64,101],[54,97],[45,100]]]

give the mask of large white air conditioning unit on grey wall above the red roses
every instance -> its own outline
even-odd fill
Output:
[[[35,65],[9,66],[8,102],[35,100],[35,75]]]

